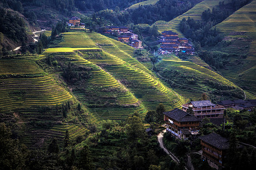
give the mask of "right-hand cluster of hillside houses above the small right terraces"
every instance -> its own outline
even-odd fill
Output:
[[[177,53],[183,52],[185,54],[194,54],[195,49],[192,45],[188,44],[188,39],[179,38],[178,34],[172,31],[163,31],[162,36],[160,36],[161,40],[158,42],[160,45],[160,53],[168,54],[168,53]]]

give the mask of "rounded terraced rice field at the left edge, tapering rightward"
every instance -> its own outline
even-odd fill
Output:
[[[35,63],[36,57],[0,59],[0,108],[15,110],[34,105],[56,105],[72,99],[51,75]]]

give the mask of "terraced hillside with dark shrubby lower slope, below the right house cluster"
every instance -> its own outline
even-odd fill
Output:
[[[195,60],[195,58],[197,57],[191,59]],[[203,93],[207,93],[214,102],[231,97],[244,98],[240,87],[207,69],[205,65],[200,66],[200,63],[182,61],[176,56],[169,56],[162,59],[156,68],[160,76],[176,92],[192,100],[200,100]]]

